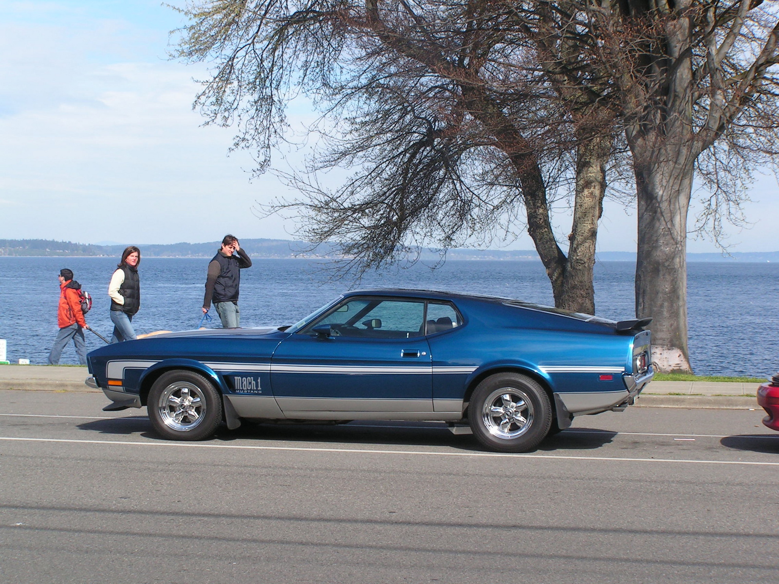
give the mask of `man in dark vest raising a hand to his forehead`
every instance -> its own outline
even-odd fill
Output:
[[[206,297],[203,298],[203,314],[211,308],[213,300],[213,308],[217,309],[225,329],[237,329],[240,325],[238,288],[241,284],[241,269],[251,266],[252,260],[238,245],[238,237],[225,235],[222,247],[208,265]]]

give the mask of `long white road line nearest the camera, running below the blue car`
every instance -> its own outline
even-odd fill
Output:
[[[558,459],[558,460],[605,460],[619,463],[683,463],[683,464],[728,464],[741,466],[779,466],[779,463],[750,462],[746,460],[692,460],[692,459],[634,459],[614,456],[551,456],[545,454],[506,454],[503,452],[424,452],[419,450],[369,450],[303,448],[301,446],[250,446],[233,444],[202,444],[195,442],[132,442],[125,440],[73,440],[69,438],[11,438],[0,436],[0,440],[13,442],[59,442],[69,444],[111,444],[128,446],[160,446],[167,448],[276,450],[287,452],[343,452],[348,454],[393,454],[401,456],[465,456],[470,458],[515,458],[515,459]]]

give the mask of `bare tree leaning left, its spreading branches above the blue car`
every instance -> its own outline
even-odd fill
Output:
[[[300,174],[304,237],[343,241],[352,266],[527,228],[555,304],[594,312],[597,221],[612,118],[569,100],[538,66],[516,11],[492,0],[217,0],[192,5],[178,57],[213,60],[197,104],[237,124],[260,166],[300,90],[337,123],[314,169],[355,167],[328,190]],[[558,76],[556,79],[562,79]],[[603,128],[606,131],[603,131]],[[575,160],[567,255],[550,195]],[[570,173],[568,173],[570,177]]]

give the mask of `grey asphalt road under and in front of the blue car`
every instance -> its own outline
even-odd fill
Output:
[[[628,408],[527,455],[440,424],[164,442],[100,394],[0,392],[0,582],[776,582],[762,411]]]

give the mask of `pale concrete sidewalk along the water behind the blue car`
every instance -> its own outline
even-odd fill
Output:
[[[100,392],[84,385],[86,367],[0,365],[0,389]],[[759,383],[651,382],[636,401],[644,407],[756,409]]]

